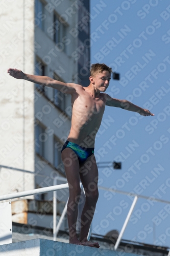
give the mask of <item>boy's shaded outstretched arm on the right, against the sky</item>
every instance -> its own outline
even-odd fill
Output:
[[[154,116],[154,114],[152,114],[149,110],[142,109],[140,108],[140,106],[137,106],[128,100],[114,99],[110,97],[108,94],[105,94],[105,96],[107,106],[115,106],[117,108],[122,108],[124,110],[137,112],[142,116]]]

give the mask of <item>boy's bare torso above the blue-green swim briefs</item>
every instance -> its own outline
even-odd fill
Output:
[[[102,122],[106,105],[104,93],[97,98],[87,88],[78,86],[71,95],[72,119],[68,141],[83,147],[94,147],[96,133]]]

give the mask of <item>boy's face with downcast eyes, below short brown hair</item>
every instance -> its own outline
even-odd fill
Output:
[[[109,86],[111,73],[108,71],[103,71],[102,73],[96,73],[94,76],[92,76],[92,83],[94,83],[94,86],[96,89],[100,90],[101,92],[105,92],[106,89]]]

